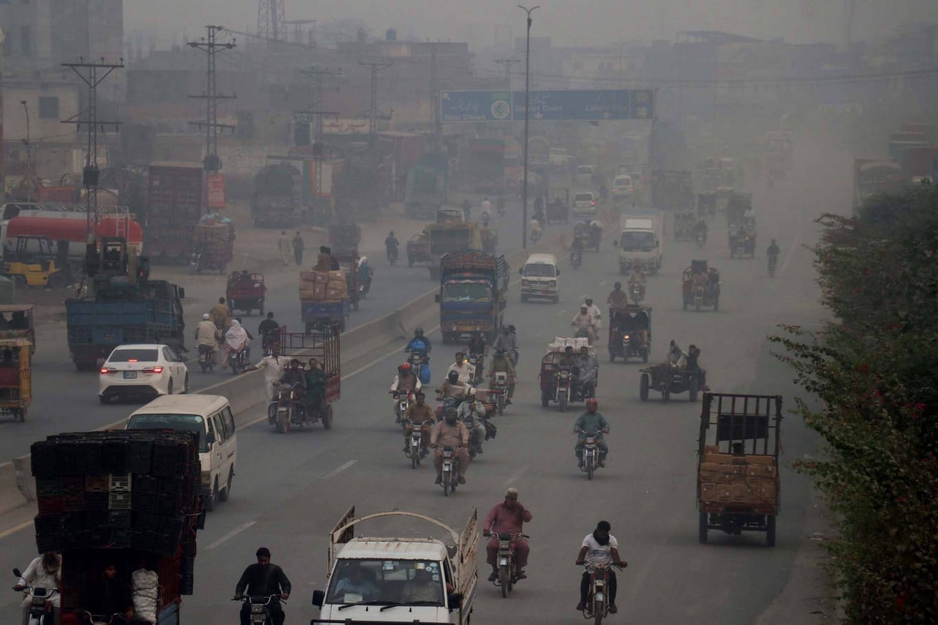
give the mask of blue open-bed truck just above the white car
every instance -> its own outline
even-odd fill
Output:
[[[93,371],[98,361],[123,343],[164,343],[184,350],[186,290],[166,280],[149,279],[149,261],[120,238],[88,245],[85,275],[88,295],[68,299],[68,350],[79,371]]]

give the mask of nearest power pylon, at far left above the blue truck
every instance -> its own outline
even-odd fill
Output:
[[[120,126],[120,122],[105,122],[98,119],[98,84],[111,75],[114,69],[124,67],[124,59],[120,63],[105,63],[101,59],[100,63],[85,63],[80,56],[78,63],[63,63],[64,67],[71,67],[72,71],[78,74],[78,77],[88,85],[88,108],[84,112],[84,119],[81,118],[81,112],[78,119],[63,120],[63,124],[76,124],[77,129],[81,130],[82,124],[87,128],[87,144],[85,146],[84,169],[82,171],[82,184],[84,186],[84,232],[85,235],[94,235],[98,237],[98,127],[105,125],[114,125],[114,128]],[[83,69],[87,69],[87,75],[83,74]],[[101,74],[98,75],[98,70]],[[92,229],[91,219],[94,214],[94,229]]]

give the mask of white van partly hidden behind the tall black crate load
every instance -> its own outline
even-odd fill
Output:
[[[181,430],[198,432],[202,463],[202,502],[214,510],[231,496],[237,433],[234,414],[221,395],[162,395],[130,415],[129,430]]]

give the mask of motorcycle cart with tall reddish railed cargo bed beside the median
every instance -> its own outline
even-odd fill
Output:
[[[312,398],[304,396],[300,389],[280,385],[277,399],[267,406],[267,423],[274,425],[280,434],[286,434],[293,427],[317,423],[323,424],[325,429],[332,428],[332,404],[341,395],[339,335],[338,325],[312,333],[291,333],[285,326],[280,327],[280,353],[295,356],[305,366],[309,366],[310,358],[315,358],[326,377],[325,391],[317,405],[311,405]]]

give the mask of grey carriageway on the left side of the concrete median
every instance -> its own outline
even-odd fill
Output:
[[[475,201],[476,213],[477,204],[478,202]],[[507,254],[521,248],[521,213],[521,202],[514,201],[508,203],[506,216],[499,217],[497,214],[494,216],[492,223],[499,231],[499,253]],[[401,227],[396,228],[401,243],[406,243],[407,239],[420,231],[423,225],[421,222],[403,220]],[[369,227],[365,226],[365,228]],[[553,226],[552,230],[559,228],[559,226]],[[383,241],[384,235],[377,240]],[[315,254],[312,253],[315,251],[318,250],[310,250],[307,254],[308,265],[315,260]],[[382,317],[433,288],[434,283],[425,266],[407,266],[403,245],[401,246],[402,261],[393,267],[387,264],[384,247],[362,251],[369,257],[375,277],[371,294],[361,301],[357,311],[351,313],[350,328]],[[280,268],[277,268],[277,271],[280,271]],[[155,274],[159,277],[159,267],[155,269]],[[223,285],[223,281],[219,284]],[[189,363],[189,383],[193,392],[215,384],[226,375],[230,375],[221,369],[203,374],[198,364],[194,362],[198,354],[194,351],[192,334],[202,314],[207,312],[222,294],[224,294],[223,286],[220,290],[189,288],[186,293],[187,297],[183,301],[186,314],[186,341],[187,346],[192,350],[189,353],[192,359]],[[280,324],[286,325],[294,332],[301,331],[295,279],[291,279],[289,284],[269,290],[265,306],[266,310],[275,313]],[[242,317],[242,319],[249,332],[256,335],[257,324],[262,319],[257,311],[255,310],[251,317]],[[108,406],[98,404],[98,376],[94,373],[75,371],[68,359],[64,322],[55,324],[54,328],[40,327],[38,332],[39,349],[33,365],[34,401],[29,409],[29,419],[23,424],[0,421],[0,462],[28,453],[32,442],[43,439],[49,434],[66,430],[82,431],[113,424],[128,416],[136,407],[136,404],[129,403]],[[251,357],[256,361],[260,356],[260,340],[256,340],[251,348]]]

